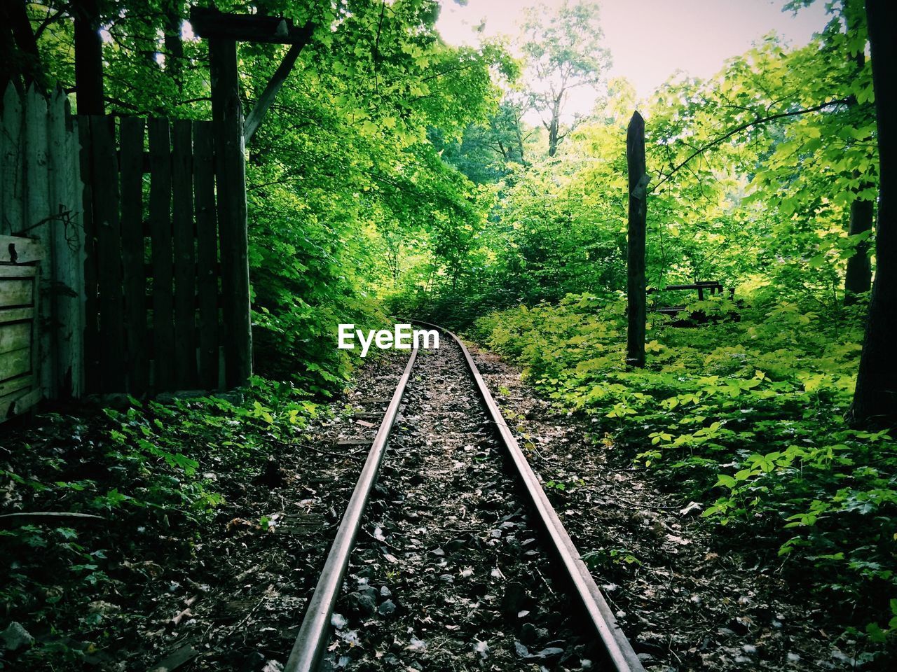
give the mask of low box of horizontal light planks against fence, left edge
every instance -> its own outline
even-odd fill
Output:
[[[0,422],[40,399],[40,262],[33,238],[0,236]]]

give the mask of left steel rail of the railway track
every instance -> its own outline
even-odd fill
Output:
[[[330,617],[333,615],[336,599],[339,597],[343,585],[343,577],[346,567],[349,565],[349,556],[352,553],[355,537],[361,528],[361,515],[364,513],[370,499],[370,491],[377,480],[380,463],[387,450],[389,433],[396,422],[398,408],[405,395],[405,386],[411,377],[411,370],[416,358],[417,349],[413,349],[411,357],[405,365],[405,372],[396,385],[396,392],[393,392],[392,400],[389,401],[387,412],[377,430],[377,436],[374,437],[374,442],[370,445],[368,458],[364,462],[361,476],[355,485],[349,504],[346,506],[343,521],[340,522],[339,530],[336,530],[334,542],[327,554],[327,562],[318,577],[318,585],[311,596],[309,607],[302,619],[299,635],[293,642],[290,658],[287,659],[283,672],[314,672],[318,668],[321,654],[327,643]]]

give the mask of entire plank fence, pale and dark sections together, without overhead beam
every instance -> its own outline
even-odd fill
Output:
[[[225,226],[228,192],[245,192],[222,188],[217,202],[216,183],[231,182],[212,122],[71,116],[61,90],[12,85],[3,104],[0,236],[42,245],[39,269],[16,272],[40,278],[44,396],[245,381],[245,220],[241,236]]]

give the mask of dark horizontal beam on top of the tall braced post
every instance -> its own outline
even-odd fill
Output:
[[[256,14],[226,14],[214,8],[190,9],[190,25],[201,38],[233,39],[239,42],[269,42],[306,45],[313,26],[295,26],[289,19]]]

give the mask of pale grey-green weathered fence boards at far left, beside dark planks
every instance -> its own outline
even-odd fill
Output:
[[[33,88],[20,96],[12,84],[7,87],[0,128],[0,236],[22,242],[5,245],[2,261],[8,277],[39,277],[33,297],[38,306],[32,344],[36,366],[30,375],[39,377],[39,387],[51,399],[83,392],[78,150],[76,123],[62,90],[46,99]],[[30,245],[30,238],[40,246]],[[40,260],[34,256],[37,249]],[[38,261],[39,268],[33,265]]]

